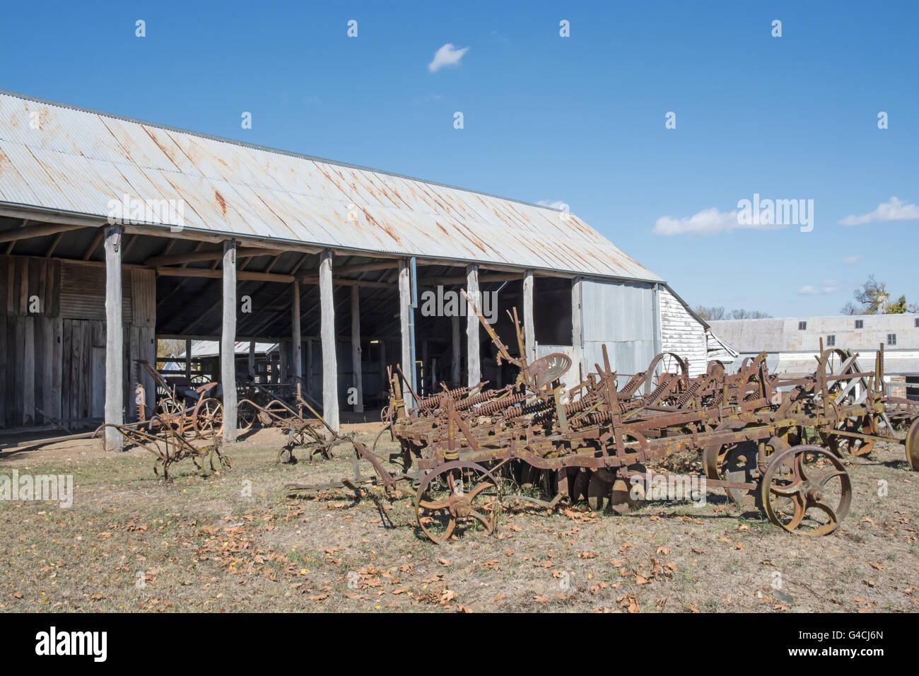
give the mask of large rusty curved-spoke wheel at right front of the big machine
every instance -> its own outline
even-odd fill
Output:
[[[842,461],[821,446],[794,446],[777,455],[760,482],[766,517],[789,533],[833,533],[852,503]]]

